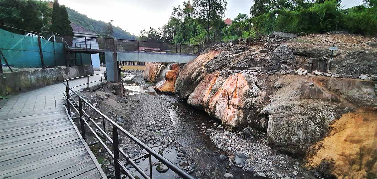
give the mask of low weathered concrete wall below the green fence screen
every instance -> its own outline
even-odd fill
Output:
[[[90,75],[93,66],[70,66],[4,73],[0,76],[0,95],[15,94],[61,83],[65,79]]]

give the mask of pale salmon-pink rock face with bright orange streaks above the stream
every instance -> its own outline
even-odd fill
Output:
[[[243,94],[247,89],[247,81],[241,74],[230,76],[210,99],[209,110],[214,111],[215,117],[234,126],[239,117],[242,117],[243,112],[239,107],[243,107]]]

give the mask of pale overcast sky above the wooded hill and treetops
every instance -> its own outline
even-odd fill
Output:
[[[184,0],[59,0],[60,5],[75,9],[88,17],[109,22],[139,35],[142,29],[159,28],[169,21],[172,6]],[[228,0],[225,18],[234,19],[238,13],[249,14],[253,0]],[[342,0],[342,9],[360,5],[362,0]]]

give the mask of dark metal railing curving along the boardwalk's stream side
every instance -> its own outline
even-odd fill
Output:
[[[98,75],[98,74],[95,74]],[[93,76],[93,75],[90,75]],[[87,76],[83,77],[77,77],[73,79],[79,79],[79,78],[84,78]],[[72,119],[80,119],[80,128],[81,128],[81,136],[83,137],[84,140],[86,140],[85,137],[85,126],[89,128],[90,132],[92,132],[97,138],[97,142],[92,142],[89,143],[88,145],[94,145],[94,144],[101,144],[106,152],[113,158],[114,160],[114,167],[115,167],[115,178],[120,179],[120,173],[122,172],[123,174],[126,174],[129,178],[135,179],[135,177],[131,174],[131,172],[125,167],[125,165],[132,165],[136,171],[138,171],[141,176],[143,176],[145,179],[152,179],[152,156],[155,157],[159,162],[162,164],[165,164],[168,168],[173,170],[176,174],[181,176],[182,178],[187,178],[187,179],[193,179],[192,176],[189,174],[185,173],[181,168],[178,166],[174,165],[172,162],[167,160],[165,157],[161,156],[159,153],[157,153],[155,150],[141,142],[138,138],[130,134],[128,131],[124,130],[120,125],[118,125],[116,122],[111,120],[109,117],[107,117],[105,114],[103,114],[101,111],[99,111],[97,108],[95,108],[93,105],[91,105],[87,100],[85,100],[83,97],[81,97],[79,94],[76,93],[70,86],[69,86],[69,81],[72,79],[64,80],[63,84],[66,86],[66,107],[68,114],[70,115],[71,113],[71,107],[77,112],[77,114],[80,114],[79,117],[73,117]],[[88,82],[89,84],[89,82]],[[85,85],[85,84],[84,84]],[[74,96],[78,98],[78,101],[76,101],[70,93],[73,93]],[[83,105],[84,105],[84,110],[83,110]],[[96,113],[99,114],[101,117],[97,118],[92,118],[89,116],[88,113],[86,113],[86,107],[89,106],[89,108],[92,108],[92,110]],[[86,118],[86,119],[85,119]],[[98,126],[98,124],[94,120],[102,119],[103,122],[103,128]],[[105,121],[109,122],[112,125],[112,137],[110,137],[106,133],[106,126],[105,126]],[[89,125],[88,122],[91,122],[97,130],[100,132],[96,132],[93,130],[93,128]],[[132,159],[129,155],[127,155],[120,147],[119,147],[119,134],[126,135],[129,139],[131,139],[133,142],[135,142],[137,145],[139,145],[141,148],[143,148],[147,153],[143,154],[139,157],[136,157]],[[104,139],[105,141],[109,141],[112,144],[112,150],[110,150],[109,147],[103,142]],[[120,154],[121,156],[125,157],[126,163],[122,164],[120,160]],[[142,159],[142,158],[149,158],[149,175],[146,174],[143,169],[141,169],[137,164],[136,160]]]

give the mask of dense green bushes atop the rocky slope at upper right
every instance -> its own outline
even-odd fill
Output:
[[[262,34],[272,31],[290,33],[324,33],[348,31],[350,33],[377,35],[377,10],[375,1],[365,0],[364,6],[340,10],[340,0],[317,0],[300,2],[294,0],[257,1],[250,9],[253,27]],[[254,12],[254,9],[255,12]],[[265,13],[261,15],[261,9]],[[253,17],[253,15],[257,15]]]

